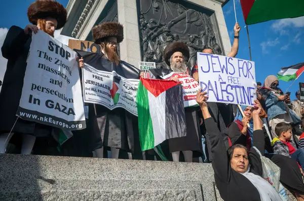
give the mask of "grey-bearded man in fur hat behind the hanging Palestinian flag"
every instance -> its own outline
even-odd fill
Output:
[[[184,74],[189,76],[186,61],[189,58],[189,49],[183,42],[173,42],[167,45],[163,56],[169,69],[150,69],[151,79],[164,79],[163,77],[170,74]],[[143,78],[143,74],[140,74]],[[179,82],[175,76],[171,76],[170,80]],[[179,153],[183,152],[186,162],[192,162],[193,156],[199,157],[202,154],[202,144],[200,137],[200,125],[198,121],[198,108],[185,108],[187,135],[182,138],[169,139],[169,150],[172,153],[173,161],[179,161]]]

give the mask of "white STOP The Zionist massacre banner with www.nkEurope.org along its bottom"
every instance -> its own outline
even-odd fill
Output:
[[[86,128],[76,57],[44,31],[33,34],[16,115],[64,130]]]

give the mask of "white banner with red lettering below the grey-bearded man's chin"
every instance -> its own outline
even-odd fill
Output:
[[[197,106],[198,103],[196,102],[196,95],[200,89],[199,83],[192,77],[183,73],[172,72],[166,76],[163,76],[162,78],[169,80],[172,77],[178,78],[181,82],[184,107]]]

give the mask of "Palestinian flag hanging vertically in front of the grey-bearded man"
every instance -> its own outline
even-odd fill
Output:
[[[182,86],[179,83],[140,79],[136,102],[142,151],[153,149],[167,139],[186,136]]]

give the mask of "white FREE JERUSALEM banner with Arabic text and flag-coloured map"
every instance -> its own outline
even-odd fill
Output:
[[[124,108],[137,116],[138,79],[126,79],[115,71],[100,71],[87,63],[82,68],[82,76],[85,103],[99,104],[110,110]]]

